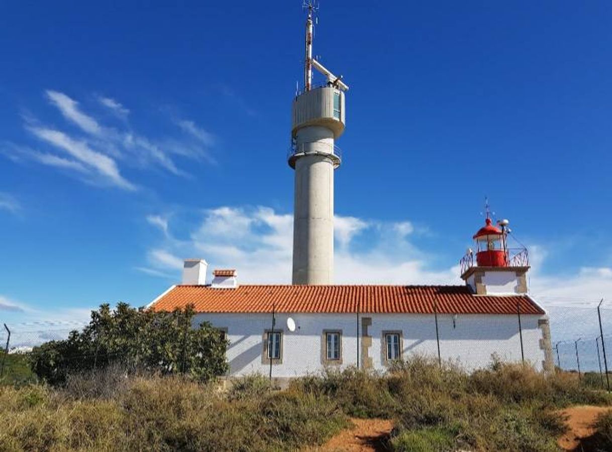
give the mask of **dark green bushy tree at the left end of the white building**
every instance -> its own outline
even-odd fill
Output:
[[[192,306],[155,313],[127,303],[118,303],[114,310],[102,305],[92,311],[89,325],[81,332],[34,347],[29,354],[32,371],[58,384],[68,374],[120,363],[128,371],[180,372],[209,380],[228,370],[228,341],[209,322],[192,328],[194,314]]]

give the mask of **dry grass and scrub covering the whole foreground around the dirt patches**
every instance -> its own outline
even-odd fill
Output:
[[[611,399],[564,374],[502,364],[466,374],[422,359],[387,376],[304,377],[286,391],[258,376],[220,391],[107,369],[61,388],[0,387],[0,450],[299,450],[323,444],[349,417],[382,417],[395,424],[390,450],[554,451],[564,431],[556,410],[572,404]]]

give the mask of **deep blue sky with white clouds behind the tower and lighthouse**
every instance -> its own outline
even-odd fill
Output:
[[[305,16],[208,3],[1,7],[0,320],[146,304],[184,257],[289,281]],[[337,282],[457,283],[488,196],[535,295],[612,298],[609,2],[321,3]]]

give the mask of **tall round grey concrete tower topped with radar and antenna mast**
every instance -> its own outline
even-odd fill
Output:
[[[304,91],[293,101],[289,166],[296,171],[293,210],[293,284],[334,282],[334,141],[345,128],[348,86],[312,56],[313,4],[308,2]],[[312,69],[327,81],[313,87]]]

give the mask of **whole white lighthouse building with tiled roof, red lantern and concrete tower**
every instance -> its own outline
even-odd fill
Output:
[[[204,259],[184,262],[181,284],[149,308],[193,305],[229,341],[230,376],[271,374],[279,383],[332,366],[384,371],[424,355],[467,370],[493,357],[553,369],[548,316],[529,295],[528,252],[509,246],[507,220],[474,234],[459,286],[335,285],[335,141],[345,130],[348,86],[312,56],[312,7],[305,32],[304,89],[293,100],[288,163],[294,174],[293,284],[240,284],[236,269],[207,278]],[[313,69],[325,77],[313,84]]]

